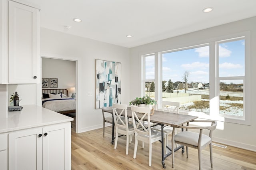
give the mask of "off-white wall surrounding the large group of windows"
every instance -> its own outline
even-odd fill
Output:
[[[169,38],[166,40],[141,45],[130,49],[130,99],[140,96],[140,56],[143,54],[154,53],[158,51],[165,51],[169,49],[176,49],[180,47],[188,47],[191,45],[198,45],[206,43],[206,40],[212,38],[236,34],[239,32],[250,31],[251,33],[251,87],[255,87],[256,79],[253,73],[256,72],[256,17],[208,28],[198,32]],[[137,84],[136,84],[137,83]],[[256,91],[251,91],[251,99],[249,102],[254,102]],[[218,122],[218,126],[222,129],[214,131],[214,140],[247,148],[249,150],[256,150],[256,114],[254,113],[254,103],[251,104],[251,126],[239,125],[234,123]]]

